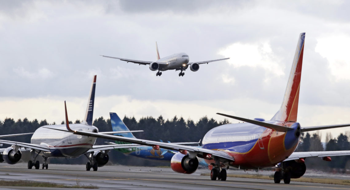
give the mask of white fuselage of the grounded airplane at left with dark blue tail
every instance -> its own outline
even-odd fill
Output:
[[[70,124],[72,130],[98,132],[97,127],[84,124]],[[66,130],[66,125],[46,125],[39,127],[31,137],[32,144],[40,144],[48,147],[50,152],[42,152],[46,157],[78,157],[86,153],[95,144],[96,138],[80,136],[64,131],[47,129]]]

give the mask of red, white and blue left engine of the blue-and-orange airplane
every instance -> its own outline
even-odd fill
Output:
[[[188,155],[181,154],[180,152],[174,154],[170,161],[170,166],[173,171],[183,174],[192,174],[198,168],[197,157],[191,159]]]

